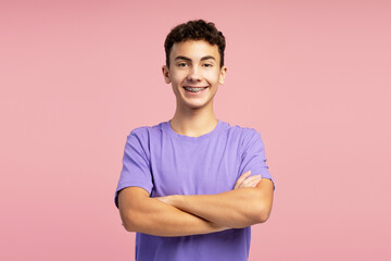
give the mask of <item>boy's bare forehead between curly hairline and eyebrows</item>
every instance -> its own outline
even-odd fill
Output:
[[[205,40],[187,40],[175,42],[173,45],[169,60],[176,57],[187,57],[191,60],[200,60],[203,57],[214,57],[219,62],[219,53],[217,45],[211,45]]]

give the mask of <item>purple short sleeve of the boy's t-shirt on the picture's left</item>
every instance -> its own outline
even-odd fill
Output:
[[[123,157],[123,169],[114,197],[117,208],[118,192],[123,188],[141,187],[151,194],[153,184],[146,144],[148,145],[148,135],[131,132],[127,137]]]

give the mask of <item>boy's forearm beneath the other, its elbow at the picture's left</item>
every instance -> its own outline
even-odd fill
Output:
[[[122,219],[127,231],[155,236],[188,236],[228,228],[149,197],[135,200],[131,208],[122,212]]]

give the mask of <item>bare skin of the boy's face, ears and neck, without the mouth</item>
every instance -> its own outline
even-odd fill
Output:
[[[217,46],[203,40],[174,44],[169,59],[171,66],[164,65],[162,71],[176,97],[176,110],[171,120],[173,129],[190,137],[210,133],[217,125],[213,113],[214,97],[227,73],[226,66],[219,66]],[[194,97],[188,95],[184,86],[207,89]]]

